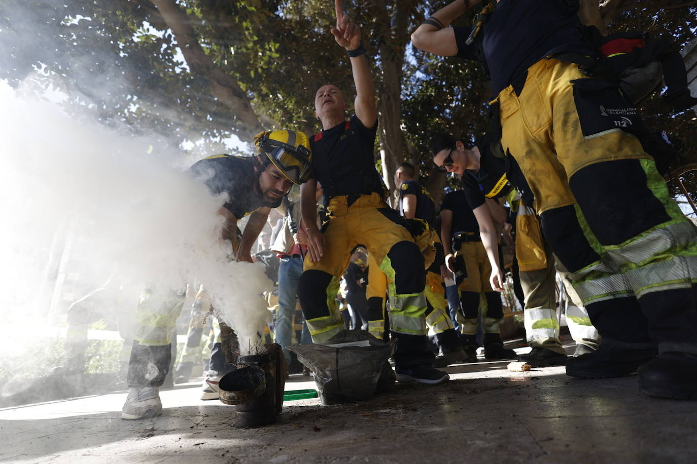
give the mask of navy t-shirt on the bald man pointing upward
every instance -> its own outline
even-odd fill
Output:
[[[378,123],[368,128],[358,116],[316,134],[312,147],[313,177],[324,190],[325,202],[338,195],[382,193],[375,168]]]

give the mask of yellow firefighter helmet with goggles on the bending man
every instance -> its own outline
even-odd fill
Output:
[[[309,138],[296,131],[266,131],[254,136],[254,145],[293,184],[307,182],[312,171]]]

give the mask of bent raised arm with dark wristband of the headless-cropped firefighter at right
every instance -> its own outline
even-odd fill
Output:
[[[450,23],[482,0],[455,0],[436,11],[411,34],[414,47],[441,56],[457,55],[455,33]]]

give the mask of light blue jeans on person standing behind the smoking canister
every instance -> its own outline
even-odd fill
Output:
[[[293,314],[296,312],[298,299],[298,280],[302,274],[301,257],[283,257],[278,268],[278,311],[274,324],[274,338],[283,348],[286,362],[291,362],[291,353],[286,346],[291,344],[293,330]],[[300,344],[312,343],[307,323],[302,321]]]

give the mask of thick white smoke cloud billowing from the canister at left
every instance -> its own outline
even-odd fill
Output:
[[[216,214],[224,198],[185,173],[196,159],[152,140],[20,98],[0,81],[3,321],[50,319],[56,260],[68,253],[85,288],[109,276],[135,291],[201,282],[242,346],[253,344],[269,316],[263,265],[229,262]]]

